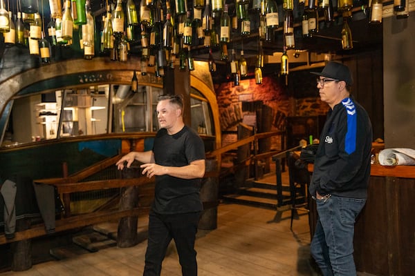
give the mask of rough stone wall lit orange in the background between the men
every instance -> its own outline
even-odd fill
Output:
[[[306,90],[310,89],[304,88]],[[290,97],[293,93],[280,85],[275,77],[265,77],[262,84],[256,84],[255,79],[242,80],[239,86],[234,86],[233,82],[216,84],[215,91],[219,104],[222,146],[237,141],[238,124],[251,124],[255,110],[261,106],[272,110],[270,131],[284,131],[288,116],[324,115],[329,108],[320,101],[320,97]],[[296,94],[298,93],[297,91]],[[282,149],[281,137],[273,137],[271,148]]]

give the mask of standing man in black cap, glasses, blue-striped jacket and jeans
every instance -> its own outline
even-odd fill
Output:
[[[356,275],[353,234],[367,198],[371,122],[350,95],[347,66],[329,61],[322,72],[311,73],[317,75],[320,98],[330,106],[309,187],[318,213],[311,255],[324,276]]]

